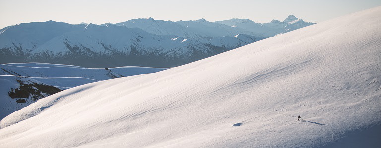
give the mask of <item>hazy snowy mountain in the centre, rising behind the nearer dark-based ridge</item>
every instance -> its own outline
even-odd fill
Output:
[[[108,24],[102,25],[104,26]],[[177,37],[196,39],[201,42],[208,42],[209,39],[217,37],[234,37],[237,34],[248,34],[258,38],[257,40],[263,39],[262,36],[256,35],[252,32],[224,24],[209,22],[205,19],[172,22],[147,18],[132,19],[112,25],[124,26],[128,28],[140,28],[155,35],[175,35]]]

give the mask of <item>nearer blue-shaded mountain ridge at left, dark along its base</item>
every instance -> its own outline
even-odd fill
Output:
[[[252,42],[262,39],[251,38]],[[226,44],[252,43],[232,41]],[[228,50],[231,49],[215,46],[209,40],[155,35],[115,25],[22,23],[7,27],[0,34],[0,63],[44,62],[95,68],[174,67]]]

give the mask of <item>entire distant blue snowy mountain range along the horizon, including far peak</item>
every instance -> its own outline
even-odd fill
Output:
[[[292,15],[265,24],[153,18],[101,25],[21,23],[0,30],[0,63],[175,67],[312,24]]]

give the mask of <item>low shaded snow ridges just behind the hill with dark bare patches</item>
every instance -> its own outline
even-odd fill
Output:
[[[73,65],[48,63],[0,64],[1,74],[40,78],[83,77],[88,79],[95,79],[97,81],[123,76],[154,73],[166,69],[168,68],[124,66],[108,68],[105,70],[105,68],[85,68]]]

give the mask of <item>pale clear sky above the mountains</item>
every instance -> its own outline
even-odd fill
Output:
[[[118,23],[135,18],[227,20],[257,23],[295,15],[321,22],[381,5],[381,0],[0,0],[0,28],[48,20],[70,24]]]

